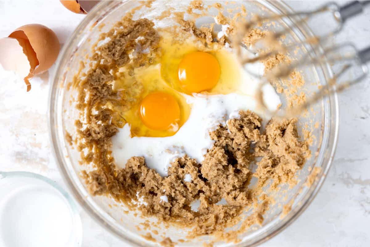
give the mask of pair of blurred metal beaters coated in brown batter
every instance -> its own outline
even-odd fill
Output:
[[[316,101],[318,101],[322,97],[327,96],[333,92],[342,91],[362,81],[369,73],[366,63],[370,61],[370,46],[367,47],[366,49],[359,51],[356,49],[356,47],[353,44],[345,43],[345,44],[336,45],[336,46],[333,46],[327,49],[323,49],[319,53],[317,53],[318,51],[316,48],[318,46],[321,46],[322,43],[326,39],[328,39],[330,36],[336,33],[339,33],[342,30],[344,23],[351,17],[354,17],[362,13],[364,7],[367,5],[370,5],[370,0],[351,1],[349,4],[346,4],[342,7],[340,7],[336,3],[327,3],[323,5],[322,7],[316,10],[313,10],[313,11],[300,11],[300,12],[296,12],[296,13],[288,14],[288,15],[258,17],[256,20],[249,21],[248,23],[243,23],[242,26],[239,28],[239,31],[237,32],[237,34],[233,37],[234,47],[240,47],[240,44],[242,44],[243,34],[248,32],[252,27],[260,25],[263,21],[278,20],[284,17],[300,17],[299,21],[297,22],[298,24],[300,24],[312,18],[315,18],[315,16],[317,16],[318,14],[328,13],[333,16],[337,24],[334,30],[327,31],[326,33],[322,35],[314,36],[304,41],[300,41],[299,43],[293,43],[287,46],[282,46],[281,44],[276,42],[276,47],[272,51],[269,51],[267,53],[261,53],[253,58],[242,57],[240,48],[236,49],[236,52],[238,53],[239,55],[238,57],[242,64],[251,63],[255,61],[261,61],[279,52],[286,52],[286,51],[292,50],[297,46],[305,46],[307,50],[307,53],[302,57],[302,59],[293,61],[292,63],[288,65],[281,65],[278,69],[275,69],[269,72],[269,74],[267,74],[266,76],[262,78],[260,78],[258,74],[253,73],[253,71],[249,71],[250,74],[253,74],[256,77],[259,77],[262,80],[262,83],[259,85],[259,90],[258,90],[258,95],[257,95],[257,100],[259,102],[260,107],[262,107],[262,110],[264,110],[266,113],[270,114],[271,116],[280,116],[280,117],[296,116],[297,114],[301,113],[302,110],[307,109],[307,107],[316,103]],[[290,30],[292,30],[292,27],[287,27],[286,29],[283,29],[282,31],[279,31],[273,34],[273,37],[269,37],[269,42],[271,40],[277,41],[280,37],[285,35]],[[239,44],[239,45],[236,45],[236,44]],[[256,51],[253,51],[253,49],[251,49],[250,47],[245,47],[245,48],[256,53]],[[293,107],[293,109],[287,109],[287,110],[280,109],[276,111],[270,111],[268,109],[268,107],[263,101],[262,87],[265,84],[270,83],[269,82],[270,79],[272,78],[279,79],[279,78],[286,77],[293,70],[299,67],[302,68],[304,66],[319,64],[323,60],[327,61],[328,63],[336,63],[336,64],[340,63],[341,64],[341,68],[339,69],[339,71],[335,74],[335,76],[333,76],[333,78],[329,79],[326,85],[322,86],[322,88],[319,89],[319,91],[315,93],[312,97],[308,97],[304,104]],[[354,70],[355,73],[358,75],[354,79],[340,82],[343,75],[348,73],[351,70]]]

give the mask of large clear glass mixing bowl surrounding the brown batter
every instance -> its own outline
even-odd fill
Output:
[[[205,1],[205,4],[212,4],[212,1]],[[222,2],[224,4],[225,2]],[[158,243],[148,241],[143,236],[147,230],[137,228],[145,220],[136,216],[133,212],[127,213],[127,208],[117,205],[110,197],[95,196],[92,197],[85,187],[80,171],[84,169],[79,163],[80,154],[73,149],[67,140],[65,140],[65,131],[74,132],[74,119],[78,118],[78,111],[75,109],[71,96],[75,95],[73,89],[68,90],[68,83],[79,68],[79,63],[85,60],[86,54],[91,55],[91,46],[99,39],[99,34],[110,30],[112,25],[121,19],[123,13],[139,4],[138,1],[101,1],[94,10],[92,10],[74,31],[68,42],[64,46],[58,61],[57,68],[53,77],[53,85],[50,90],[50,108],[49,108],[49,127],[51,142],[55,158],[60,167],[62,176],[70,187],[74,197],[81,206],[93,217],[101,226],[111,233],[114,233],[122,240],[127,241],[132,246],[158,246]],[[157,1],[153,3],[151,9],[147,7],[138,10],[134,19],[146,17],[151,19],[159,15],[167,7],[175,9],[185,9],[188,1]],[[245,9],[252,13],[260,15],[267,14],[287,14],[291,13],[284,3],[278,1],[236,1],[228,3],[228,8],[232,5],[244,5]],[[211,10],[210,15],[216,16],[217,10]],[[226,15],[228,13],[225,13]],[[167,21],[167,22],[166,22]],[[213,18],[202,17],[197,20],[197,24],[213,22]],[[276,21],[276,26],[286,26],[298,23],[297,19],[282,18]],[[101,25],[104,24],[104,25]],[[171,24],[168,20],[163,19],[158,25]],[[275,25],[274,24],[274,25]],[[286,36],[284,42],[289,40],[303,40],[312,36],[310,29],[305,24],[299,24],[291,33]],[[321,49],[319,47],[319,49]],[[319,50],[316,50],[318,52]],[[291,54],[293,58],[302,56],[304,49],[297,54]],[[302,69],[302,75],[305,78],[305,85],[302,91],[310,94],[317,90],[317,85],[324,85],[327,79],[332,76],[329,64],[323,61],[317,66],[310,66]],[[299,92],[298,92],[299,93]],[[286,226],[292,223],[311,203],[319,191],[330,163],[337,141],[338,131],[338,103],[336,94],[325,97],[313,106],[313,111],[309,111],[306,117],[299,119],[299,125],[304,126],[319,122],[321,128],[313,128],[313,135],[316,136],[311,150],[314,154],[308,160],[303,169],[297,174],[298,183],[295,187],[289,188],[283,186],[279,193],[271,195],[275,198],[276,203],[271,205],[268,212],[264,215],[262,226],[253,226],[240,234],[239,243],[222,243],[215,242],[215,246],[254,246],[273,237],[282,231]],[[320,167],[321,171],[312,186],[306,187],[305,182],[309,177],[313,167]],[[267,192],[270,193],[270,192]],[[270,193],[271,194],[271,193]],[[290,201],[294,201],[291,210],[282,217],[282,206]],[[154,220],[154,219],[149,219]],[[178,242],[178,239],[184,238],[184,231],[174,227],[158,228],[152,227],[151,230],[157,230],[159,235],[171,237],[172,241]],[[163,237],[153,236],[156,240],[161,241]],[[202,241],[212,241],[211,236],[204,236],[198,239],[189,240],[185,243],[178,243],[179,246],[202,246]]]

